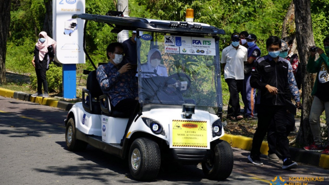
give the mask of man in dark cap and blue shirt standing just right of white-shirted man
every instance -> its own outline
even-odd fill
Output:
[[[257,46],[257,37],[254,34],[250,34],[245,38],[248,44],[248,59],[244,63],[244,82],[242,91],[242,100],[244,103],[245,118],[252,119],[255,114],[255,96],[256,89],[250,86],[251,69],[254,62],[260,57],[260,49]]]

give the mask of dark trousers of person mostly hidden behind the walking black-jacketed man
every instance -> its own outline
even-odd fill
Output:
[[[286,124],[286,136],[290,134],[293,127],[295,126],[295,116],[292,113],[286,113],[287,124]],[[271,120],[274,122],[274,120]],[[269,143],[269,154],[277,153],[277,134],[275,124],[271,123],[267,132],[267,141]]]

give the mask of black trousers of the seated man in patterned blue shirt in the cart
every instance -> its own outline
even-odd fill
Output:
[[[114,106],[114,109],[123,112],[126,115],[130,115],[125,134],[123,135],[123,139],[125,139],[130,125],[133,123],[137,113],[140,111],[140,103],[136,99],[126,98],[119,101],[119,103]]]

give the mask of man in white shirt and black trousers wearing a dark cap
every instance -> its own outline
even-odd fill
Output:
[[[224,79],[229,86],[230,101],[228,115],[231,121],[243,119],[240,114],[239,93],[243,88],[244,62],[247,61],[247,48],[239,45],[240,37],[238,33],[231,35],[232,44],[225,47],[222,52],[221,63],[225,64]]]

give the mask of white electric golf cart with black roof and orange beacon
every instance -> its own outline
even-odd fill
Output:
[[[137,30],[140,107],[125,133],[130,115],[113,109],[95,71],[90,72],[83,101],[74,104],[65,120],[68,149],[83,150],[90,144],[128,158],[130,172],[138,180],[155,179],[160,165],[172,161],[202,163],[206,178],[227,179],[233,169],[233,151],[220,139],[224,129],[219,36],[224,30],[202,23],[135,17],[78,14],[72,18],[86,20],[85,32],[88,21],[109,24],[113,33]],[[152,48],[161,52],[160,66],[168,76],[142,70]]]

